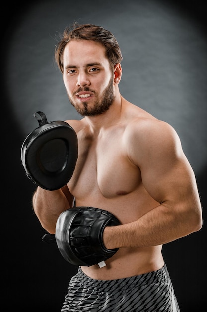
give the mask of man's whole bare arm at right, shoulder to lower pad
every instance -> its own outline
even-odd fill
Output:
[[[140,168],[145,189],[159,205],[134,222],[106,227],[103,242],[108,249],[161,245],[202,227],[195,175],[177,133],[160,122],[145,134],[144,141],[135,137],[138,142],[130,157]],[[143,151],[141,156],[136,146]]]

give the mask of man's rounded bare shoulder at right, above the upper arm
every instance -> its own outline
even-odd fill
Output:
[[[163,157],[170,159],[183,154],[176,130],[169,123],[147,113],[132,118],[124,137],[128,156],[134,163]]]

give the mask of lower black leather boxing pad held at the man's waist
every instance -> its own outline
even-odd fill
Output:
[[[75,207],[60,214],[56,223],[55,239],[66,261],[74,265],[91,266],[111,258],[117,251],[103,244],[106,226],[120,225],[110,212],[94,207]],[[47,234],[46,234],[47,235]],[[51,235],[43,241],[53,242]]]

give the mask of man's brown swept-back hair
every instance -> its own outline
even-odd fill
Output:
[[[115,36],[101,26],[84,24],[79,25],[74,23],[72,27],[65,28],[61,40],[55,47],[55,61],[63,73],[63,52],[67,43],[71,40],[92,40],[100,42],[106,49],[106,57],[110,65],[122,61],[122,53]]]

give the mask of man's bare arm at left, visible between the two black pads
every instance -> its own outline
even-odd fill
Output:
[[[59,215],[72,207],[73,196],[67,185],[55,191],[37,187],[32,198],[34,212],[42,227],[50,234],[55,233]]]

